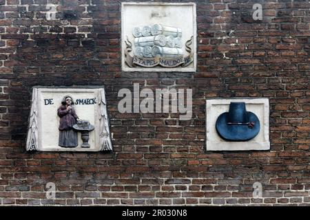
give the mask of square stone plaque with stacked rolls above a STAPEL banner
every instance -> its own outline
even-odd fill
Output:
[[[122,69],[196,71],[195,3],[122,3]]]

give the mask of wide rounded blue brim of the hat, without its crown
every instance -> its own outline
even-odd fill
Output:
[[[247,111],[249,122],[254,122],[254,127],[249,128],[247,124],[227,124],[228,112],[220,114],[216,120],[216,131],[224,140],[247,141],[256,137],[260,132],[260,121],[251,111]]]

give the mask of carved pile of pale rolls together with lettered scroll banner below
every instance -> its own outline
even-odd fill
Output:
[[[193,36],[187,39],[184,52],[181,28],[156,23],[136,26],[132,35],[133,43],[128,36],[125,39],[125,63],[129,67],[187,67],[193,62]]]

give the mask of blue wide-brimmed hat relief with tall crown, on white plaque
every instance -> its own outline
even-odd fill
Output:
[[[247,141],[258,135],[258,117],[245,109],[245,102],[230,102],[229,112],[222,113],[216,120],[216,131],[224,140]]]

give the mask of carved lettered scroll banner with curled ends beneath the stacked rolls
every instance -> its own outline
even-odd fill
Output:
[[[125,48],[125,63],[129,67],[156,67],[157,65],[160,65],[161,67],[187,67],[190,65],[193,61],[193,53],[192,48],[189,47],[189,45],[192,44],[193,36],[189,41],[185,43],[185,50],[189,53],[188,56],[176,56],[174,58],[167,58],[165,56],[156,56],[153,58],[145,58],[143,56],[131,56],[130,52],[132,52],[132,43],[130,41],[125,41],[126,48]]]

